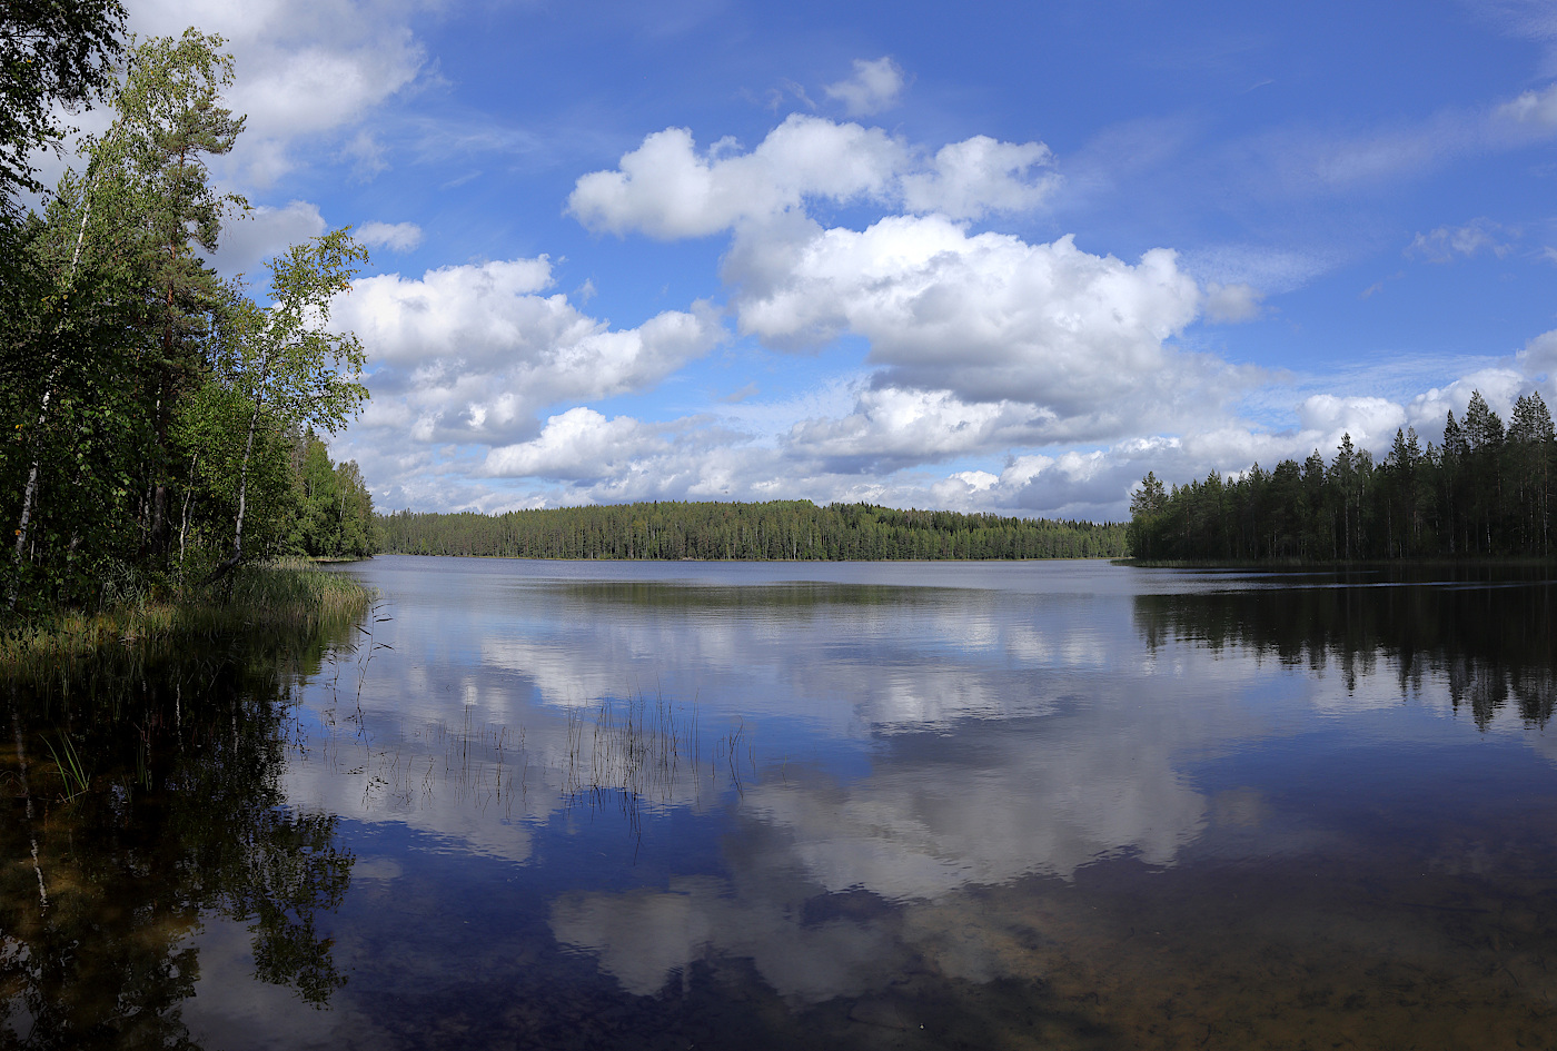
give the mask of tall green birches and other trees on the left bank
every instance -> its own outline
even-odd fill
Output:
[[[276,554],[372,551],[372,500],[321,434],[367,397],[329,329],[366,252],[335,230],[254,290],[210,260],[248,212],[209,165],[244,118],[220,36],[123,44],[117,2],[6,5],[0,61],[3,612],[173,593]],[[106,107],[58,185],[33,167]],[[33,202],[28,206],[28,202]]]

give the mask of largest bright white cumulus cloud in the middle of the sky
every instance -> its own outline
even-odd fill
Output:
[[[732,249],[743,333],[819,346],[845,332],[895,386],[967,402],[1025,402],[1053,434],[1105,436],[1202,391],[1219,361],[1166,346],[1199,315],[1200,290],[1171,251],[1135,265],[1062,237],[1028,244],[970,235],[944,216],[889,216]]]

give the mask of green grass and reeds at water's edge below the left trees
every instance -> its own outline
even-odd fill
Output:
[[[325,623],[361,617],[372,603],[355,579],[307,559],[244,567],[212,589],[156,593],[120,584],[104,592],[111,593],[97,612],[61,610],[0,624],[0,680],[36,684],[93,660],[310,635]]]

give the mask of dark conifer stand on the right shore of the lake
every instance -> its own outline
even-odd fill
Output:
[[[1552,556],[1557,441],[1540,394],[1509,427],[1474,392],[1448,414],[1443,445],[1395,431],[1383,462],[1347,434],[1327,466],[1319,450],[1236,481],[1216,472],[1165,490],[1148,473],[1130,500],[1129,545],[1149,561],[1339,562],[1406,557]]]

